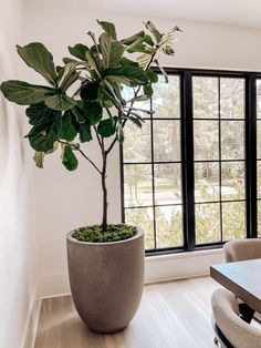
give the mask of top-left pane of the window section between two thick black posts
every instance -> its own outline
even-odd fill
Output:
[[[218,104],[218,78],[192,78],[194,117],[217,119]]]

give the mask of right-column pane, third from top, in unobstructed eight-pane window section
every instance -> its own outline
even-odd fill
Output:
[[[244,162],[221,164],[222,201],[244,199]]]

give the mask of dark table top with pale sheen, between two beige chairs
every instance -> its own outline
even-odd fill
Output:
[[[261,258],[211,266],[210,276],[261,313]]]

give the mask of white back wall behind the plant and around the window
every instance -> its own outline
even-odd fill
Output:
[[[90,29],[97,31],[96,19],[114,21],[121,37],[139,31],[143,27],[142,22],[147,20],[147,18],[129,18],[103,12],[91,13],[87,1],[85,6],[83,3],[76,6],[75,1],[72,6],[59,4],[55,1],[38,3],[29,1],[23,16],[24,32],[21,43],[44,42],[59,63],[61,58],[67,54],[69,44],[84,43]],[[176,45],[176,58],[165,61],[168,65],[261,70],[261,31],[259,30],[149,19],[163,30],[174,24],[178,24],[184,30]],[[24,74],[24,79],[39,81],[30,71]],[[95,144],[86,145],[86,152],[96,160]],[[117,149],[111,160],[108,184],[109,217],[111,221],[116,222],[121,219]],[[98,177],[83,161],[80,163],[79,171],[69,173],[60,164],[59,155],[52,155],[46,158],[44,170],[35,168],[35,195],[39,274],[42,276],[40,284],[42,295],[52,295],[65,289],[66,232],[83,224],[101,221]]]

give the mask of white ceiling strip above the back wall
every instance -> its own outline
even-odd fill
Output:
[[[59,0],[25,0],[49,3]],[[91,11],[261,29],[261,0],[60,0]]]

